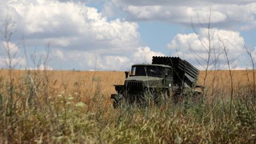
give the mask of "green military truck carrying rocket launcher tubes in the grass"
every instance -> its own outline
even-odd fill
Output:
[[[114,85],[113,106],[143,101],[149,93],[156,103],[159,97],[178,97],[184,89],[199,87],[198,76],[199,70],[180,57],[153,56],[151,64],[132,65],[124,85]]]

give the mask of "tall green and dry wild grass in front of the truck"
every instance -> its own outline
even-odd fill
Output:
[[[201,101],[185,97],[156,106],[113,109],[99,79],[55,87],[45,71],[0,78],[0,142],[5,143],[255,143],[253,92],[240,86],[206,90]],[[70,88],[72,87],[72,88]],[[231,105],[231,107],[230,107]]]

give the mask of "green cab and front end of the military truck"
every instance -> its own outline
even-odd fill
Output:
[[[129,102],[140,100],[145,92],[156,95],[156,89],[159,92],[165,92],[167,95],[173,87],[172,67],[159,64],[136,64],[132,65],[129,75],[124,81],[124,85],[114,85],[117,94],[112,94],[114,107],[119,105],[120,99],[126,99]]]

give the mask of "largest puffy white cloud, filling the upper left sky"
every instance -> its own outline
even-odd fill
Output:
[[[8,9],[8,12],[7,10]],[[139,44],[138,25],[121,19],[107,21],[96,8],[81,2],[9,1],[3,7],[17,23],[28,46],[50,41],[53,47],[79,50],[135,49]]]

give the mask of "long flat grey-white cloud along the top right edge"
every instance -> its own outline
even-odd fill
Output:
[[[112,0],[130,20],[156,20],[171,23],[211,23],[226,28],[255,27],[256,2],[246,1],[128,1]]]

